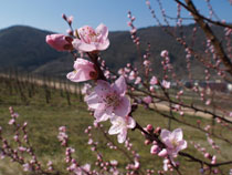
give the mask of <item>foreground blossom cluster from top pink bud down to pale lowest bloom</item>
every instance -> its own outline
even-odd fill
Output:
[[[67,20],[67,18],[65,18]],[[68,24],[72,20],[68,20]],[[46,37],[46,42],[57,51],[77,50],[92,55],[94,62],[77,58],[74,62],[74,71],[70,72],[66,78],[73,82],[84,82],[95,80],[96,86],[93,92],[86,93],[85,102],[89,110],[94,112],[96,122],[110,120],[113,126],[109,134],[118,134],[118,142],[126,140],[127,128],[134,128],[136,123],[133,117],[128,116],[130,112],[130,101],[126,96],[126,80],[124,76],[118,78],[115,83],[109,84],[101,78],[99,68],[95,64],[97,52],[105,50],[109,45],[108,29],[99,24],[95,30],[88,25],[82,27],[75,31],[73,38],[63,34],[51,34]],[[60,133],[60,140],[65,144],[64,133]]]

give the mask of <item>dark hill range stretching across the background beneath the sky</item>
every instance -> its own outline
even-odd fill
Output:
[[[182,28],[169,28],[177,35],[181,32],[186,35],[187,43],[191,44],[193,24]],[[165,27],[167,28],[167,27]],[[219,38],[222,38],[223,30],[214,28]],[[31,27],[14,25],[0,30],[0,69],[18,68],[36,73],[48,73],[51,75],[63,75],[72,70],[73,59],[68,53],[57,52],[45,43],[45,35],[53,32],[43,31]],[[151,44],[151,62],[154,72],[160,74],[161,58],[160,52],[168,50],[170,59],[175,65],[177,74],[186,74],[184,50],[173,38],[168,35],[160,27],[139,29],[141,49],[145,53],[147,42]],[[203,54],[204,44],[202,32],[197,32],[194,50]],[[140,59],[136,45],[130,39],[128,31],[110,32],[110,47],[102,52],[102,58],[106,60],[109,68],[117,70],[126,63],[140,65]],[[192,71],[197,76],[201,76],[203,69],[197,61],[192,61]]]

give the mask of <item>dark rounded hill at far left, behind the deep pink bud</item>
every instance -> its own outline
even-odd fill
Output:
[[[0,30],[0,68],[33,71],[64,55],[45,43],[45,35],[50,33],[23,25]]]

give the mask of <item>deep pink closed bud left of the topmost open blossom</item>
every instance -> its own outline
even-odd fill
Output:
[[[73,39],[64,34],[46,35],[46,43],[57,51],[73,50]]]

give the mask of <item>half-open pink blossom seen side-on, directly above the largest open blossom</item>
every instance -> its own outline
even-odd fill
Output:
[[[76,59],[74,62],[74,71],[67,73],[67,79],[73,82],[83,82],[87,80],[97,79],[97,72],[94,68],[94,63],[84,60],[84,59]]]

